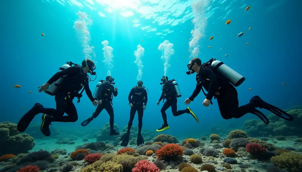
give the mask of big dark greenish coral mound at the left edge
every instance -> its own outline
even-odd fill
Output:
[[[17,124],[11,122],[0,123],[0,156],[5,154],[27,153],[34,148],[34,138],[29,134],[19,134]]]

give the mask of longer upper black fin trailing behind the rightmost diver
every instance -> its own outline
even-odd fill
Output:
[[[257,107],[259,107],[261,109],[263,108],[263,109],[269,110],[273,114],[281,117],[284,120],[288,120],[288,121],[294,120],[294,118],[290,114],[286,113],[285,111],[282,111],[281,109],[279,109],[273,105],[266,103],[258,95],[252,97],[252,99],[249,102],[252,102],[252,101],[257,102]]]

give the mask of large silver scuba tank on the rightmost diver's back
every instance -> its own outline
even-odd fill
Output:
[[[220,72],[223,77],[228,79],[230,81],[230,83],[236,87],[239,86],[240,84],[242,84],[243,81],[245,80],[245,77],[243,77],[242,75],[237,73],[232,68],[226,66],[226,64],[224,64],[223,62],[221,62],[219,60],[213,61],[211,66],[214,69],[216,69],[218,72]]]

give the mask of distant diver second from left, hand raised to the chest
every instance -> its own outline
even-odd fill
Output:
[[[93,118],[98,117],[98,115],[101,113],[103,109],[105,109],[109,116],[109,123],[110,123],[110,136],[117,136],[120,133],[117,133],[115,129],[113,128],[114,124],[114,113],[113,113],[113,108],[112,108],[112,99],[113,96],[117,96],[117,90],[118,88],[113,86],[115,84],[114,78],[111,76],[106,77],[105,80],[100,80],[99,83],[97,84],[95,88],[95,92],[93,94],[93,98],[95,100],[98,100],[98,107],[96,108],[95,112],[93,112],[92,117],[88,118],[87,120],[84,120],[81,125],[85,127],[88,125]]]

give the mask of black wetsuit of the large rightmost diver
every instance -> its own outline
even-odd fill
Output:
[[[212,100],[213,96],[217,99],[220,114],[224,119],[240,118],[247,113],[255,111],[257,107],[255,102],[239,107],[236,88],[228,80],[220,77],[220,73],[213,70],[213,68],[201,67],[196,76],[198,78],[197,85],[193,94],[189,97],[191,101],[199,94],[203,86],[208,92],[206,99]]]

